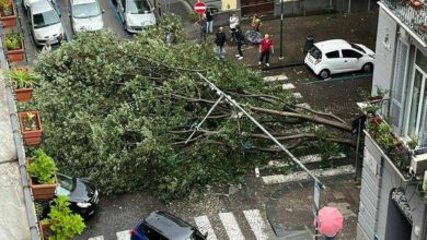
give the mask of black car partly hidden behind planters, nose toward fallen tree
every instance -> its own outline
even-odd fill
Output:
[[[57,173],[58,187],[56,188],[57,195],[67,195],[70,202],[70,209],[80,214],[82,217],[89,217],[97,207],[100,202],[96,188],[90,182]]]

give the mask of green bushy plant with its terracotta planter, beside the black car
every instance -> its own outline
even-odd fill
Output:
[[[56,171],[58,170],[54,159],[43,149],[37,149],[34,158],[27,159],[27,170],[34,200],[51,200],[57,187]]]

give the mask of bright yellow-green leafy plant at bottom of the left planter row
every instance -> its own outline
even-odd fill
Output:
[[[59,195],[54,200],[48,217],[41,220],[42,239],[72,239],[76,235],[81,235],[81,232],[83,232],[85,228],[83,218],[78,214],[73,214],[69,205],[68,196]],[[47,229],[48,232],[46,232],[45,229]]]

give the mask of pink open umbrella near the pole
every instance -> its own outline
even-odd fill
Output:
[[[343,214],[335,207],[324,206],[319,211],[319,232],[326,237],[334,237],[343,229]]]

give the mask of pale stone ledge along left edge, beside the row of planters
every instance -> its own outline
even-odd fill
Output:
[[[2,75],[0,71],[0,239],[26,240],[28,219]]]

